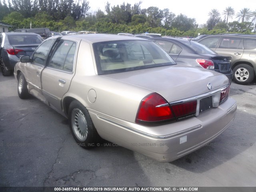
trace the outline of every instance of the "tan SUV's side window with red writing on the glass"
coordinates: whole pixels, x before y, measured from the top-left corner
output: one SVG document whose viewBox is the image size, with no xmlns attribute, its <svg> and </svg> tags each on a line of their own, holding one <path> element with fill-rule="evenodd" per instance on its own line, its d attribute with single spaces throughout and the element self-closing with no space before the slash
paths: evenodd
<svg viewBox="0 0 256 192">
<path fill-rule="evenodd" d="M 222 49 L 242 49 L 242 38 L 236 37 L 222 37 L 219 48 Z"/>
</svg>

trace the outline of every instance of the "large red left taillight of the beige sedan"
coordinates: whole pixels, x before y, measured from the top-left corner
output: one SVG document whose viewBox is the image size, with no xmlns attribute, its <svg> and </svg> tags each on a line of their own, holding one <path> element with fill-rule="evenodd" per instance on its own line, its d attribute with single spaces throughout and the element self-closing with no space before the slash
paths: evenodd
<svg viewBox="0 0 256 192">
<path fill-rule="evenodd" d="M 159 94 L 152 93 L 142 99 L 136 116 L 136 123 L 148 126 L 182 120 L 196 114 L 196 101 L 170 104 Z"/>
</svg>

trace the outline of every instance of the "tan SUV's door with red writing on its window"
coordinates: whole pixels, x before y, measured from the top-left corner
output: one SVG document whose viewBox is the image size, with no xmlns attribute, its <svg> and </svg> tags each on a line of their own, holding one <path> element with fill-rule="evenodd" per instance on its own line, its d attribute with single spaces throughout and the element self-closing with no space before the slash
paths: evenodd
<svg viewBox="0 0 256 192">
<path fill-rule="evenodd" d="M 240 60 L 244 54 L 243 38 L 240 37 L 221 37 L 220 44 L 215 50 L 218 54 L 232 57 L 232 63 Z"/>
</svg>

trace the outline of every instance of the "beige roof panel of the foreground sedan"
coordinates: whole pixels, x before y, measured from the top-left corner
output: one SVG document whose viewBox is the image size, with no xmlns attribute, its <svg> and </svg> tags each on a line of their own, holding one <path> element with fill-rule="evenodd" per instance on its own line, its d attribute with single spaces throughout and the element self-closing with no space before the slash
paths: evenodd
<svg viewBox="0 0 256 192">
<path fill-rule="evenodd" d="M 50 37 L 54 38 L 54 37 Z M 48 38 L 48 39 L 50 39 Z M 145 40 L 142 38 L 138 37 L 132 37 L 132 36 L 125 36 L 125 35 L 112 35 L 112 34 L 78 34 L 78 35 L 64 35 L 62 37 L 59 37 L 62 39 L 67 39 L 67 40 L 75 40 L 75 41 L 80 41 L 80 40 L 85 40 L 90 43 L 97 43 L 97 42 L 107 42 L 107 41 L 115 41 L 115 40 Z"/>
</svg>

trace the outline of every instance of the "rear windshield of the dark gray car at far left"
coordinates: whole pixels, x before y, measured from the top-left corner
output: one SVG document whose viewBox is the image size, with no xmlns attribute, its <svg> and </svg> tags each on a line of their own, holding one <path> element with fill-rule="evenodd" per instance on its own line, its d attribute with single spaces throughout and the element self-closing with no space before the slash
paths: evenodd
<svg viewBox="0 0 256 192">
<path fill-rule="evenodd" d="M 11 45 L 40 44 L 43 40 L 38 35 L 9 35 Z"/>
</svg>

